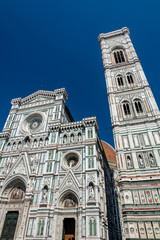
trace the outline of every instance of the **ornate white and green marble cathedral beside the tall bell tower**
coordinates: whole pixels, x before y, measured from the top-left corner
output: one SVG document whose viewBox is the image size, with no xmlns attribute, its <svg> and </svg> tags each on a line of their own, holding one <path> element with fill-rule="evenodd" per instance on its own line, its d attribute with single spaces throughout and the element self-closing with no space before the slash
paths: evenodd
<svg viewBox="0 0 160 240">
<path fill-rule="evenodd" d="M 1 240 L 118 239 L 103 146 L 114 150 L 102 146 L 95 117 L 73 120 L 66 99 L 57 89 L 12 100 L 0 133 Z"/>
</svg>

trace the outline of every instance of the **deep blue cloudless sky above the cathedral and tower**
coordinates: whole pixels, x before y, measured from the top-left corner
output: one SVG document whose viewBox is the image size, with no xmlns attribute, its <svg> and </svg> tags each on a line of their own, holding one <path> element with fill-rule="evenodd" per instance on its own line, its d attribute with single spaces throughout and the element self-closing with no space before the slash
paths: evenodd
<svg viewBox="0 0 160 240">
<path fill-rule="evenodd" d="M 159 0 L 0 1 L 0 129 L 11 99 L 65 87 L 75 119 L 96 116 L 113 146 L 97 37 L 128 27 L 159 105 Z"/>
</svg>

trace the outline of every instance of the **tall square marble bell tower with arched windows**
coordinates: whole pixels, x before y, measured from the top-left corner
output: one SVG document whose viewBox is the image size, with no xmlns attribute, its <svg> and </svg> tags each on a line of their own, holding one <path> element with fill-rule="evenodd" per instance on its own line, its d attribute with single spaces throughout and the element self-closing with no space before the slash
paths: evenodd
<svg viewBox="0 0 160 240">
<path fill-rule="evenodd" d="M 98 37 L 118 165 L 123 239 L 160 239 L 160 112 L 128 28 Z"/>
</svg>

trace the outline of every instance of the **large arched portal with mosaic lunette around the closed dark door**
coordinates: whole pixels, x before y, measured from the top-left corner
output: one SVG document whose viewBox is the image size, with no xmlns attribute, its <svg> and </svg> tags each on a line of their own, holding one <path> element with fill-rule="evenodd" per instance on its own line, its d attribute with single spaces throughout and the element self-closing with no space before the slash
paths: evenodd
<svg viewBox="0 0 160 240">
<path fill-rule="evenodd" d="M 1 203 L 3 205 L 0 221 L 0 239 L 13 240 L 17 238 L 24 218 L 26 187 L 21 179 L 14 179 L 7 184 L 1 194 Z M 20 232 L 20 231 L 19 231 Z M 19 235 L 20 235 L 19 234 Z"/>
</svg>

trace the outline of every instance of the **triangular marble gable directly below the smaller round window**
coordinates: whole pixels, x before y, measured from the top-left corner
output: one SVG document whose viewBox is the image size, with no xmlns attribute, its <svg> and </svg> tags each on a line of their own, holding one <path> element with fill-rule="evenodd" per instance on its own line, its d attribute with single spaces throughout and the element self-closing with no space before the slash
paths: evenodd
<svg viewBox="0 0 160 240">
<path fill-rule="evenodd" d="M 68 170 L 59 187 L 59 193 L 66 190 L 73 190 L 79 192 L 80 184 L 71 169 Z"/>
</svg>

